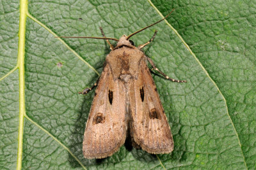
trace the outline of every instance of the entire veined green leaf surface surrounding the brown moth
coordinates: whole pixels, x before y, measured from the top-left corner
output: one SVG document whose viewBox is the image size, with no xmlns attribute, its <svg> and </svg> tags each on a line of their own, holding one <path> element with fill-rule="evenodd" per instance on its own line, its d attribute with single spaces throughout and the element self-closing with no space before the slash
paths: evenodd
<svg viewBox="0 0 256 170">
<path fill-rule="evenodd" d="M 253 1 L 29 1 L 28 6 L 21 1 L 20 9 L 9 2 L 0 10 L 1 169 L 256 167 Z M 168 76 L 188 81 L 152 74 L 172 129 L 173 152 L 151 155 L 122 146 L 107 159 L 84 159 L 83 132 L 94 91 L 77 92 L 97 81 L 109 46 L 99 39 L 54 37 L 101 36 L 102 27 L 106 36 L 120 38 L 172 8 L 168 22 L 132 41 L 145 43 L 157 30 L 145 54 Z M 19 10 L 27 17 L 20 26 Z"/>
</svg>

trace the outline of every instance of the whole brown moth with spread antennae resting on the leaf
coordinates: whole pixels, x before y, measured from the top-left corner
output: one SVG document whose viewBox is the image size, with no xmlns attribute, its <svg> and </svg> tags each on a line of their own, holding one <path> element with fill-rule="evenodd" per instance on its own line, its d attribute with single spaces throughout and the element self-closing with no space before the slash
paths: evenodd
<svg viewBox="0 0 256 170">
<path fill-rule="evenodd" d="M 93 85 L 93 87 L 97 86 L 97 89 L 83 139 L 83 155 L 86 159 L 102 159 L 113 155 L 120 146 L 124 145 L 128 132 L 132 146 L 136 148 L 140 146 L 148 153 L 154 154 L 172 152 L 172 132 L 147 62 L 152 66 L 152 70 L 168 80 L 186 81 L 174 80 L 166 76 L 141 50 L 153 41 L 157 31 L 147 43 L 138 47 L 130 40 L 134 34 L 162 20 L 129 36 L 123 35 L 120 39 L 106 38 L 100 28 L 103 37 L 96 39 L 106 39 L 111 52 L 106 57 L 99 80 Z M 111 45 L 109 39 L 117 41 L 116 46 Z M 87 94 L 93 87 L 79 93 Z"/>
</svg>

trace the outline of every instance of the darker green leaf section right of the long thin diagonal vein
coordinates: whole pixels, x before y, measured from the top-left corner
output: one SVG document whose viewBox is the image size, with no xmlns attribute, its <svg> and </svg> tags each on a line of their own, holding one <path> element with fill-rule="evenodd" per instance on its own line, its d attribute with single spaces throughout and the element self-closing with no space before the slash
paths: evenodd
<svg viewBox="0 0 256 170">
<path fill-rule="evenodd" d="M 256 168 L 255 1 L 153 1 L 216 82 L 227 101 L 248 169 Z M 180 19 L 182 18 L 182 19 Z"/>
</svg>

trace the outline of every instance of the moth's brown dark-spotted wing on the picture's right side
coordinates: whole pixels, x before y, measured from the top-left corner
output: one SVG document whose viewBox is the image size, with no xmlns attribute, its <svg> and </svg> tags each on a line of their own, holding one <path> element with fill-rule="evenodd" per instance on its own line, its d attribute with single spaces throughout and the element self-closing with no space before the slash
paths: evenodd
<svg viewBox="0 0 256 170">
<path fill-rule="evenodd" d="M 145 60 L 140 61 L 137 75 L 129 94 L 132 138 L 148 153 L 170 153 L 172 132 Z"/>
</svg>

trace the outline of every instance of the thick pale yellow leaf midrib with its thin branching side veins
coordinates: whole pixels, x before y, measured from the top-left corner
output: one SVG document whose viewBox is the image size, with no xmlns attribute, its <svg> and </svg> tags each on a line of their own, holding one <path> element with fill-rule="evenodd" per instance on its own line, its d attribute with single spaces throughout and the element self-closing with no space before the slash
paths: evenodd
<svg viewBox="0 0 256 170">
<path fill-rule="evenodd" d="M 83 164 L 80 162 L 79 159 L 67 148 L 67 146 L 63 145 L 57 138 L 52 136 L 51 133 L 46 131 L 43 127 L 36 124 L 31 118 L 26 115 L 26 105 L 25 105 L 25 67 L 24 67 L 24 59 L 25 59 L 25 41 L 26 41 L 26 18 L 29 17 L 32 20 L 35 20 L 38 24 L 40 24 L 42 27 L 47 29 L 47 31 L 51 32 L 54 36 L 57 36 L 54 34 L 54 32 L 51 31 L 51 29 L 47 28 L 44 24 L 36 20 L 33 16 L 31 16 L 28 12 L 28 1 L 27 0 L 20 0 L 20 21 L 19 21 L 19 46 L 18 46 L 18 59 L 17 59 L 17 66 L 15 66 L 11 71 L 9 71 L 7 74 L 5 74 L 0 80 L 3 80 L 8 75 L 12 74 L 13 71 L 16 69 L 19 69 L 19 130 L 18 130 L 18 149 L 17 149 L 17 170 L 22 169 L 22 145 L 23 145 L 23 135 L 24 135 L 24 118 L 27 118 L 31 123 L 35 124 L 39 129 L 44 131 L 46 134 L 51 136 L 52 139 L 54 139 L 57 143 L 59 143 L 65 150 L 74 157 L 74 159 L 77 160 L 77 162 L 83 167 L 83 169 L 86 169 L 86 167 L 83 166 Z M 86 62 L 81 56 L 79 56 L 70 46 L 68 46 L 62 39 L 59 38 L 59 40 L 67 46 L 67 48 L 73 52 L 79 59 L 83 60 L 83 62 L 89 66 L 95 73 L 99 75 L 99 73 L 96 71 L 96 69 L 88 62 Z"/>
</svg>

